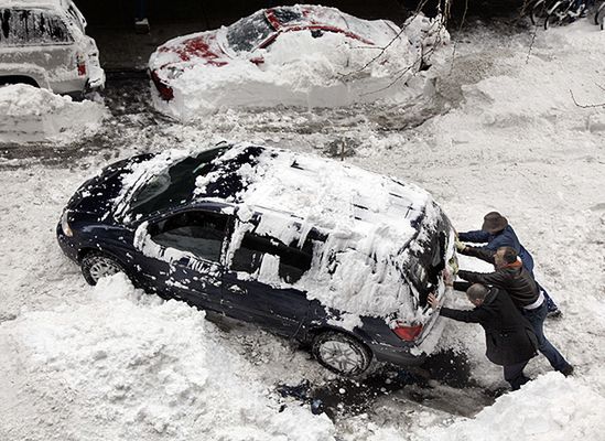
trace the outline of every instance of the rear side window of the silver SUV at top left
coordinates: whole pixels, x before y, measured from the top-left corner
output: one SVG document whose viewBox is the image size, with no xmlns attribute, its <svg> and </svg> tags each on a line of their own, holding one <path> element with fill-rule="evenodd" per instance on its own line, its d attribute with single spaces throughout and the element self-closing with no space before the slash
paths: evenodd
<svg viewBox="0 0 605 441">
<path fill-rule="evenodd" d="M 0 45 L 64 44 L 73 41 L 65 22 L 52 12 L 0 9 Z"/>
</svg>

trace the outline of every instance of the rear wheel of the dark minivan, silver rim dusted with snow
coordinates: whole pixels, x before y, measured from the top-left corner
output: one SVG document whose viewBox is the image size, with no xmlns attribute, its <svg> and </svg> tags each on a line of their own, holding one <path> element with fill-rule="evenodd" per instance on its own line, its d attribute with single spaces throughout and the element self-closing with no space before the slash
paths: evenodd
<svg viewBox="0 0 605 441">
<path fill-rule="evenodd" d="M 313 340 L 313 356 L 336 374 L 354 377 L 371 363 L 370 351 L 357 338 L 341 332 L 323 332 Z"/>
</svg>

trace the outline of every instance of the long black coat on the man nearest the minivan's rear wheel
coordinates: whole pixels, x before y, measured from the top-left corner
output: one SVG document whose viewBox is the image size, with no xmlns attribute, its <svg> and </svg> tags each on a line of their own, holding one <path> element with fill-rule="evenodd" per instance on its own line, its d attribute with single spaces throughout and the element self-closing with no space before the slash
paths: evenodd
<svg viewBox="0 0 605 441">
<path fill-rule="evenodd" d="M 536 355 L 538 341 L 529 321 L 504 290 L 493 288 L 480 306 L 471 311 L 442 308 L 441 315 L 485 330 L 487 358 L 500 366 L 527 362 Z"/>
</svg>

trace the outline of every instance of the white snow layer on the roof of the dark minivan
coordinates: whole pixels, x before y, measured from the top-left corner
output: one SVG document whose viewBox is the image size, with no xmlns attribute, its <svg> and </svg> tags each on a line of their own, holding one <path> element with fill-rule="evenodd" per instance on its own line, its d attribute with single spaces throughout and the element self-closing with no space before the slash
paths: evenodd
<svg viewBox="0 0 605 441">
<path fill-rule="evenodd" d="M 220 163 L 248 154 L 248 143 L 231 147 L 216 162 L 218 168 L 198 178 L 196 194 L 206 195 L 207 184 L 220 178 Z M 430 200 L 422 189 L 366 170 L 293 151 L 260 148 L 235 171 L 244 182 L 236 204 L 253 209 L 294 215 L 301 222 L 332 230 L 368 234 L 375 225 L 388 226 L 400 241 L 415 233 L 410 222 L 418 218 Z M 230 171 L 234 173 L 234 171 Z M 212 194 L 210 194 L 212 196 Z"/>
</svg>

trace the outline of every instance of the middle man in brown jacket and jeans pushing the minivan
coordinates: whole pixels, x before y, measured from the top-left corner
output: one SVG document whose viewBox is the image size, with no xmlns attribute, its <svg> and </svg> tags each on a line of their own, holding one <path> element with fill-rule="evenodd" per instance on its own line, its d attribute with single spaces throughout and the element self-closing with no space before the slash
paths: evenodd
<svg viewBox="0 0 605 441">
<path fill-rule="evenodd" d="M 548 358 L 555 370 L 565 376 L 571 375 L 573 366 L 544 336 L 543 325 L 548 313 L 544 294 L 517 258 L 517 251 L 510 247 L 500 247 L 495 254 L 482 248 L 473 248 L 471 252 L 493 263 L 496 271 L 483 273 L 460 270 L 457 276 L 472 283 L 483 283 L 506 290 L 516 306 L 531 323 L 538 337 L 538 351 Z"/>
</svg>

